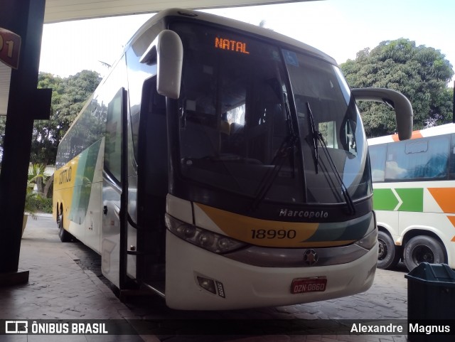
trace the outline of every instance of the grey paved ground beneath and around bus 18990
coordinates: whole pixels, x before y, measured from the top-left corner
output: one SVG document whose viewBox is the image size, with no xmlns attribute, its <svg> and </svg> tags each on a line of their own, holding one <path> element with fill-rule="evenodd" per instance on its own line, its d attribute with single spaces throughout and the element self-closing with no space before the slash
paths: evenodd
<svg viewBox="0 0 455 342">
<path fill-rule="evenodd" d="M 405 268 L 394 271 L 378 269 L 373 287 L 363 294 L 311 304 L 282 306 L 267 309 L 239 311 L 175 311 L 168 309 L 158 296 L 134 296 L 122 303 L 103 281 L 100 274 L 100 257 L 79 242 L 62 243 L 58 230 L 49 217 L 29 221 L 21 244 L 20 269 L 30 271 L 28 284 L 0 289 L 0 319 L 117 319 L 137 323 L 138 319 L 176 322 L 190 321 L 196 328 L 203 327 L 212 319 L 221 328 L 232 324 L 232 328 L 255 324 L 270 319 L 283 322 L 284 319 L 301 322 L 308 320 L 309 335 L 234 336 L 229 335 L 182 336 L 163 335 L 141 336 L 18 336 L 0 335 L 1 342 L 9 341 L 237 341 L 237 342 L 296 342 L 296 341 L 343 341 L 343 342 L 404 342 L 403 335 L 348 335 L 316 334 L 315 327 L 346 326 L 346 320 L 388 319 L 392 321 L 407 318 L 407 279 Z M 294 320 L 294 321 L 292 321 Z M 181 321 L 178 321 L 181 322 Z M 226 322 L 228 322 L 226 324 Z M 212 323 L 213 324 L 213 323 Z M 264 328 L 264 326 L 262 326 Z M 311 330 L 313 329 L 313 330 Z M 186 331 L 186 330 L 184 330 Z M 296 330 L 294 330 L 296 331 Z M 326 331 L 326 330 L 324 330 Z M 199 332 L 199 331 L 198 331 Z M 256 331 L 255 331 L 256 332 Z"/>
</svg>

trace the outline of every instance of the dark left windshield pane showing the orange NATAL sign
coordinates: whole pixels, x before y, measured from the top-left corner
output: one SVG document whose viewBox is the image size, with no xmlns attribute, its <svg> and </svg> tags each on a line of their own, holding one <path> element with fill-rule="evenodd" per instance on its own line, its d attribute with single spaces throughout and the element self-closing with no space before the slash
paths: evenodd
<svg viewBox="0 0 455 342">
<path fill-rule="evenodd" d="M 301 203 L 300 152 L 287 142 L 294 134 L 279 49 L 207 26 L 172 28 L 184 47 L 183 176 L 250 198 Z"/>
</svg>

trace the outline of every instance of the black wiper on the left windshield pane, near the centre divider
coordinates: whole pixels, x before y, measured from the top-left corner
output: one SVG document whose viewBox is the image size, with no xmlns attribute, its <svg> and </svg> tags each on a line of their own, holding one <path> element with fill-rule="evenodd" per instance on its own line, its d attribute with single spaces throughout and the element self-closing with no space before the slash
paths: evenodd
<svg viewBox="0 0 455 342">
<path fill-rule="evenodd" d="M 292 118 L 291 118 L 291 112 L 289 110 L 289 105 L 287 102 L 287 95 L 284 92 L 284 107 L 286 109 L 286 117 L 287 117 L 287 124 L 288 124 L 288 130 L 289 134 L 287 137 L 284 138 L 281 146 L 279 146 L 279 149 L 277 153 L 275 154 L 274 158 L 272 159 L 272 165 L 273 169 L 269 169 L 266 171 L 264 178 L 262 178 L 262 181 L 259 183 L 259 187 L 256 192 L 255 200 L 252 202 L 252 210 L 255 210 L 259 203 L 261 203 L 267 193 L 269 192 L 270 188 L 272 187 L 272 184 L 277 178 L 279 171 L 282 169 L 282 166 L 284 164 L 284 161 L 288 158 L 288 156 L 291 156 L 291 166 L 292 166 L 292 176 L 294 176 L 295 173 L 295 166 L 294 166 L 294 148 L 299 141 L 299 136 L 295 134 L 294 131 L 294 125 L 292 124 Z"/>
</svg>

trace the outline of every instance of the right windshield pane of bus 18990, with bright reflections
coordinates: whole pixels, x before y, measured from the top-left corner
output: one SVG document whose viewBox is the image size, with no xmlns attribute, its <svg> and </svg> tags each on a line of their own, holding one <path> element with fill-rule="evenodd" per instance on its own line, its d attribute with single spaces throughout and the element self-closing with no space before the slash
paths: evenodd
<svg viewBox="0 0 455 342">
<path fill-rule="evenodd" d="M 307 201 L 344 202 L 344 186 L 353 200 L 370 195 L 367 141 L 341 71 L 293 51 L 283 55 L 299 122 Z"/>
</svg>

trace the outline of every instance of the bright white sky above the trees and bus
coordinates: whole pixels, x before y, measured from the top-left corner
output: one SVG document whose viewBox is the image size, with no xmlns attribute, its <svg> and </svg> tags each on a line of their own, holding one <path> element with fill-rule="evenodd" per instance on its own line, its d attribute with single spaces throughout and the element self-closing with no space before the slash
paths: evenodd
<svg viewBox="0 0 455 342">
<path fill-rule="evenodd" d="M 338 63 L 382 41 L 407 38 L 440 50 L 455 65 L 454 0 L 322 0 L 206 11 L 255 25 L 265 21 L 266 28 L 314 46 Z M 95 70 L 103 76 L 103 63 L 114 63 L 152 15 L 45 24 L 40 71 L 65 78 Z"/>
</svg>

